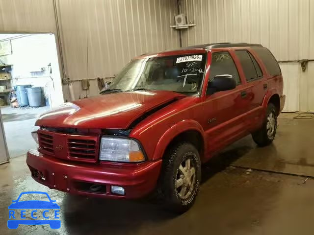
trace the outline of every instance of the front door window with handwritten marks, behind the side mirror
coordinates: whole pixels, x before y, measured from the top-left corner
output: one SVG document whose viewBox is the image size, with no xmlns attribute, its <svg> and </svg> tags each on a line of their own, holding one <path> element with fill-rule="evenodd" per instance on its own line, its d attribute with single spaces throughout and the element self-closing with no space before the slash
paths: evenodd
<svg viewBox="0 0 314 235">
<path fill-rule="evenodd" d="M 214 52 L 211 57 L 209 82 L 212 81 L 214 76 L 223 74 L 232 75 L 235 79 L 236 85 L 241 84 L 235 62 L 229 52 Z M 207 94 L 210 94 L 210 87 L 207 88 Z"/>
</svg>

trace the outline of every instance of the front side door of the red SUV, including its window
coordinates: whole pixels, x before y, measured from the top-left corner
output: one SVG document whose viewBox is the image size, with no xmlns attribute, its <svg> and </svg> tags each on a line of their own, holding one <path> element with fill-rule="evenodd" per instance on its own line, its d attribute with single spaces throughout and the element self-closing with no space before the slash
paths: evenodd
<svg viewBox="0 0 314 235">
<path fill-rule="evenodd" d="M 249 102 L 246 86 L 239 76 L 233 56 L 228 51 L 212 53 L 209 81 L 216 75 L 230 74 L 237 86 L 234 90 L 216 93 L 213 93 L 210 86 L 207 88 L 203 102 L 203 127 L 209 152 L 215 152 L 247 134 L 243 116 Z"/>
</svg>

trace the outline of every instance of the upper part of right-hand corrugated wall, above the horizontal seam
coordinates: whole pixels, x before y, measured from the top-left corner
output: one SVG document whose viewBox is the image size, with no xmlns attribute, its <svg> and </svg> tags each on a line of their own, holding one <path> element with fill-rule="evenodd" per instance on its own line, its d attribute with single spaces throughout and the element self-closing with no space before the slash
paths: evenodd
<svg viewBox="0 0 314 235">
<path fill-rule="evenodd" d="M 314 34 L 313 0 L 183 0 L 182 12 L 188 12 L 188 20 L 196 24 L 184 31 L 183 36 L 188 38 L 183 46 L 200 41 L 262 43 L 278 60 L 314 54 L 314 46 L 310 45 L 310 34 Z"/>
</svg>

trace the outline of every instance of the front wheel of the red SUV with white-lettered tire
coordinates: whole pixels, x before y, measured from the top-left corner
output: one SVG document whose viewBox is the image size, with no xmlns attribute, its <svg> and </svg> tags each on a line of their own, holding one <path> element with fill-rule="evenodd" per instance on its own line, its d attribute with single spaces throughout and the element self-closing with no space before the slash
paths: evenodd
<svg viewBox="0 0 314 235">
<path fill-rule="evenodd" d="M 195 202 L 201 183 L 201 160 L 196 147 L 176 144 L 163 158 L 161 194 L 171 211 L 183 213 Z"/>
</svg>

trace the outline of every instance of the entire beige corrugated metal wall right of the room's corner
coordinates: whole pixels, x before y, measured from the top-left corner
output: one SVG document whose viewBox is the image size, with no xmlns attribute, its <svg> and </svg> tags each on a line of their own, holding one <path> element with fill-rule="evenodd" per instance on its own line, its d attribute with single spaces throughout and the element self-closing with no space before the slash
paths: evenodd
<svg viewBox="0 0 314 235">
<path fill-rule="evenodd" d="M 313 0 L 182 0 L 195 27 L 183 31 L 183 46 L 216 42 L 261 43 L 279 61 L 314 59 Z M 286 111 L 314 111 L 314 62 L 281 63 Z"/>
</svg>

